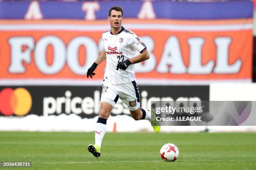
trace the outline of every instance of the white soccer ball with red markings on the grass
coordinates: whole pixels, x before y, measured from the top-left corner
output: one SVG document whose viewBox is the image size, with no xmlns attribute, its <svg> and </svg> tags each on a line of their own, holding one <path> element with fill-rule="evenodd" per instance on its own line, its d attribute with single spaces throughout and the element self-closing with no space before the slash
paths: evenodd
<svg viewBox="0 0 256 170">
<path fill-rule="evenodd" d="M 167 143 L 162 146 L 160 156 L 165 161 L 174 161 L 179 157 L 179 149 L 172 143 Z"/>
</svg>

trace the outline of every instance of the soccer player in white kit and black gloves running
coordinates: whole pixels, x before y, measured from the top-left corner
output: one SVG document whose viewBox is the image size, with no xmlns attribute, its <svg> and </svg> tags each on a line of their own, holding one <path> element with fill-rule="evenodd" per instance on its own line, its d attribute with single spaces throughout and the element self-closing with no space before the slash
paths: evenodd
<svg viewBox="0 0 256 170">
<path fill-rule="evenodd" d="M 97 158 L 100 157 L 100 147 L 105 135 L 107 119 L 119 97 L 128 106 L 134 120 L 147 119 L 156 133 L 160 131 L 155 114 L 153 112 L 151 114 L 146 108 L 140 108 L 140 96 L 135 82 L 134 64 L 147 60 L 149 52 L 137 35 L 123 28 L 122 7 L 111 7 L 108 21 L 111 30 L 102 34 L 104 50 L 87 70 L 87 78 L 89 76 L 92 78 L 97 65 L 107 60 L 99 118 L 95 128 L 95 145 L 88 146 L 88 151 Z M 135 56 L 137 51 L 140 54 Z"/>
</svg>

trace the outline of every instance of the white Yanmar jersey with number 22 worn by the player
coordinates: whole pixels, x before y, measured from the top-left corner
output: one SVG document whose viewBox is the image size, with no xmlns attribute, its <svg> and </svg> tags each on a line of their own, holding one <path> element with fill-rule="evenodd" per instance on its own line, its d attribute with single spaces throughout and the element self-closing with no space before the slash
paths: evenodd
<svg viewBox="0 0 256 170">
<path fill-rule="evenodd" d="M 111 31 L 102 34 L 104 48 L 107 56 L 107 67 L 104 80 L 111 84 L 122 84 L 135 80 L 134 64 L 126 70 L 118 69 L 119 62 L 135 57 L 136 52 L 146 49 L 144 43 L 132 31 L 122 27 L 118 34 L 113 35 Z"/>
</svg>

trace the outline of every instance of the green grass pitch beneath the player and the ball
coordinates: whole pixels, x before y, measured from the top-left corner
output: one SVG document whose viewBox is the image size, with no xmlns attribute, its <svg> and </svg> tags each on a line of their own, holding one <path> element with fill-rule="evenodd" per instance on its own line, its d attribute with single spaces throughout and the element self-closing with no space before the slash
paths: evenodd
<svg viewBox="0 0 256 170">
<path fill-rule="evenodd" d="M 256 169 L 256 133 L 106 133 L 99 159 L 91 143 L 94 133 L 0 132 L 0 161 L 31 161 L 26 170 Z M 166 143 L 179 148 L 174 162 L 159 156 Z"/>
</svg>

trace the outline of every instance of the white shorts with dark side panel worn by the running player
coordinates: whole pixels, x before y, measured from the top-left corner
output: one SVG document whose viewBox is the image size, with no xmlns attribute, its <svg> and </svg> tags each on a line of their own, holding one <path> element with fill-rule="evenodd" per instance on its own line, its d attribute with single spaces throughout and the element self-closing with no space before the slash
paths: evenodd
<svg viewBox="0 0 256 170">
<path fill-rule="evenodd" d="M 104 81 L 100 102 L 108 102 L 114 107 L 119 97 L 131 111 L 137 110 L 141 106 L 140 95 L 135 80 L 117 85 Z"/>
</svg>

